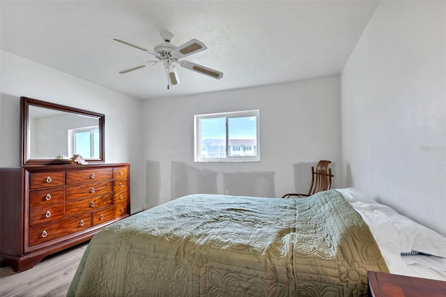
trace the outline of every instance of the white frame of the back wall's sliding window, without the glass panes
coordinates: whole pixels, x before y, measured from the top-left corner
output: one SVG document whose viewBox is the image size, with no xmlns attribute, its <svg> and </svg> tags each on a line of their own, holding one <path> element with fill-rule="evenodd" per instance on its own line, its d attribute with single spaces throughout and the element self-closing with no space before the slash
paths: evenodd
<svg viewBox="0 0 446 297">
<path fill-rule="evenodd" d="M 256 116 L 256 155 L 229 155 L 229 125 L 231 118 Z M 213 118 L 226 119 L 226 157 L 202 158 L 201 157 L 201 119 Z M 252 146 L 251 146 L 252 148 Z M 253 150 L 254 148 L 252 148 Z M 260 161 L 260 110 L 243 110 L 238 112 L 218 112 L 213 114 L 194 115 L 194 162 L 259 162 Z"/>
</svg>

